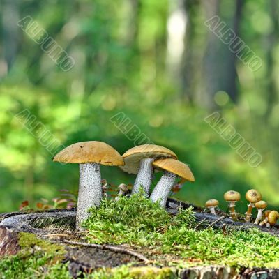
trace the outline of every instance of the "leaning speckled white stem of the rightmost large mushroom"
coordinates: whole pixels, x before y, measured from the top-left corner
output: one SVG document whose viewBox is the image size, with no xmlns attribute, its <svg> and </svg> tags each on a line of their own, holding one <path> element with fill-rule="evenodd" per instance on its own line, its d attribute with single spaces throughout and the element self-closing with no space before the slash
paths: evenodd
<svg viewBox="0 0 279 279">
<path fill-rule="evenodd" d="M 176 174 L 165 171 L 165 173 L 155 186 L 153 192 L 151 193 L 151 201 L 157 202 L 158 200 L 160 200 L 160 206 L 165 208 L 165 205 L 167 203 L 167 197 L 169 195 L 170 190 L 172 190 L 172 186 L 174 186 L 175 179 Z"/>
</svg>

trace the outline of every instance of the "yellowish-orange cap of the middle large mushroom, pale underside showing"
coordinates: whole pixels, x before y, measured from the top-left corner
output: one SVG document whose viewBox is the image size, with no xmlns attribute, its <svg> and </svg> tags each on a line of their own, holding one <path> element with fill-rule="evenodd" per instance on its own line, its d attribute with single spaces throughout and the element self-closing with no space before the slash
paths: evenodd
<svg viewBox="0 0 279 279">
<path fill-rule="evenodd" d="M 123 172 L 137 174 L 140 169 L 140 160 L 144 158 L 174 158 L 176 154 L 166 147 L 155 144 L 143 144 L 128 149 L 123 155 L 125 165 L 120 167 Z"/>
</svg>

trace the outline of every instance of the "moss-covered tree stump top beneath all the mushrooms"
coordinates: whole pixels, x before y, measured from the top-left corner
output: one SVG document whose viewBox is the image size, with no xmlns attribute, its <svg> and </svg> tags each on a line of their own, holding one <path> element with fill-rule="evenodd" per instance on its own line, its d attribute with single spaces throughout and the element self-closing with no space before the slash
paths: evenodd
<svg viewBox="0 0 279 279">
<path fill-rule="evenodd" d="M 74 209 L 1 214 L 0 277 L 279 278 L 278 225 L 234 222 L 175 199 L 168 213 L 136 202 L 92 209 L 80 233 Z"/>
</svg>

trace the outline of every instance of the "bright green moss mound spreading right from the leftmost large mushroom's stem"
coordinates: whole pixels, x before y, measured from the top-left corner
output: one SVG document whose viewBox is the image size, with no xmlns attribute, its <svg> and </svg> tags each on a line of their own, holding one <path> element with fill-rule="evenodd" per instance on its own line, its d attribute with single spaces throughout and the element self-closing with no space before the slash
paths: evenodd
<svg viewBox="0 0 279 279">
<path fill-rule="evenodd" d="M 162 266 L 279 266 L 278 237 L 258 229 L 196 230 L 191 209 L 169 216 L 142 195 L 104 199 L 84 226 L 91 243 L 128 243 Z"/>
</svg>

